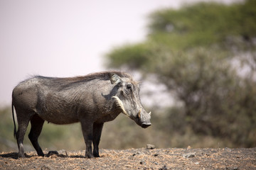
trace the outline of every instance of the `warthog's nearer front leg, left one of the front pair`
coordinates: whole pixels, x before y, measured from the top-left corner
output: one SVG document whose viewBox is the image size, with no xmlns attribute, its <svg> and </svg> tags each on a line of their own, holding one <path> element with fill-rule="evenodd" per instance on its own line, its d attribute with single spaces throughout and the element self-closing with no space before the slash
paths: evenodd
<svg viewBox="0 0 256 170">
<path fill-rule="evenodd" d="M 89 121 L 81 121 L 82 125 L 82 135 L 85 139 L 85 157 L 92 158 L 92 123 L 88 123 Z"/>
</svg>

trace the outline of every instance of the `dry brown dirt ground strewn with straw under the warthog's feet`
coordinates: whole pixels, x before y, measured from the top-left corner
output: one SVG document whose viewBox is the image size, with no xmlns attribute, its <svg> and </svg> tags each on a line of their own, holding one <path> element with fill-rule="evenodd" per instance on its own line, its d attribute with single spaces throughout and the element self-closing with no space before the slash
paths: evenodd
<svg viewBox="0 0 256 170">
<path fill-rule="evenodd" d="M 256 148 L 248 149 L 100 149 L 100 158 L 85 158 L 85 151 L 58 151 L 38 157 L 28 152 L 1 153 L 0 169 L 256 169 Z"/>
</svg>

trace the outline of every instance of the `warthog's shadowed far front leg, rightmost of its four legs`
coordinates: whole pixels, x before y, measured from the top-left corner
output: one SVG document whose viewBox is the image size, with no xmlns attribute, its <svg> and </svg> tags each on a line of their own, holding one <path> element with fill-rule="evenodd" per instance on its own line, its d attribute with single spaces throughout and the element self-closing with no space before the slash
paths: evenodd
<svg viewBox="0 0 256 170">
<path fill-rule="evenodd" d="M 103 123 L 94 123 L 93 124 L 93 156 L 100 157 L 99 154 L 99 144 L 100 144 L 100 136 L 102 133 Z"/>
</svg>

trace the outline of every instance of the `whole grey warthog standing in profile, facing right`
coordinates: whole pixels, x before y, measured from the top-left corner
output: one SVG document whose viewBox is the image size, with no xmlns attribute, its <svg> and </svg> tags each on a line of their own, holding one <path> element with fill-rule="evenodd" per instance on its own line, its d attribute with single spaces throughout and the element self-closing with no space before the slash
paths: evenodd
<svg viewBox="0 0 256 170">
<path fill-rule="evenodd" d="M 151 125 L 151 113 L 146 113 L 139 98 L 139 84 L 124 72 L 100 72 L 73 78 L 32 77 L 14 88 L 12 112 L 18 157 L 25 157 L 23 138 L 29 122 L 28 138 L 39 156 L 44 156 L 38 137 L 45 121 L 58 125 L 80 122 L 88 158 L 100 157 L 98 146 L 103 124 L 114 120 L 119 113 L 142 128 Z"/>
</svg>

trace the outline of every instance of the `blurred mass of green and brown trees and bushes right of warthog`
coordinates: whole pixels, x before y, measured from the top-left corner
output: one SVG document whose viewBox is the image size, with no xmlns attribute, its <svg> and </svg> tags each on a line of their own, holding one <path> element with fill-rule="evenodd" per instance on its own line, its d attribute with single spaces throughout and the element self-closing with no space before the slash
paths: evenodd
<svg viewBox="0 0 256 170">
<path fill-rule="evenodd" d="M 107 66 L 135 69 L 145 79 L 154 74 L 175 94 L 182 106 L 166 109 L 168 121 L 159 119 L 156 126 L 170 136 L 255 147 L 256 1 L 167 8 L 151 13 L 148 27 L 144 42 L 110 51 Z"/>
</svg>

